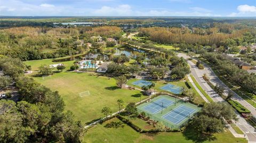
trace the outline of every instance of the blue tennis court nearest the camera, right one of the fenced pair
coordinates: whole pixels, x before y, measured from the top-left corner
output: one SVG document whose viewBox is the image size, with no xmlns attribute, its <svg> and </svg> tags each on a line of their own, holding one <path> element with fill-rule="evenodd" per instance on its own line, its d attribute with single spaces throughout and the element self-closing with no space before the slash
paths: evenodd
<svg viewBox="0 0 256 143">
<path fill-rule="evenodd" d="M 179 124 L 183 120 L 185 120 L 187 117 L 190 117 L 191 114 L 196 112 L 193 108 L 190 108 L 185 105 L 181 105 L 177 108 L 175 108 L 173 111 L 163 115 L 163 119 L 168 120 L 174 124 Z"/>
</svg>

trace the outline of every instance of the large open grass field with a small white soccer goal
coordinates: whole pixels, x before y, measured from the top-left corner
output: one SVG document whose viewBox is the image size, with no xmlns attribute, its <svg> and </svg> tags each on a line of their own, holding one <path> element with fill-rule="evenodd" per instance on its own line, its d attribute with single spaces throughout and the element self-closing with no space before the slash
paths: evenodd
<svg viewBox="0 0 256 143">
<path fill-rule="evenodd" d="M 66 110 L 73 111 L 83 123 L 103 117 L 101 110 L 104 106 L 109 106 L 113 112 L 118 111 L 117 99 L 123 99 L 125 104 L 140 101 L 139 90 L 119 89 L 114 78 L 108 80 L 89 73 L 61 72 L 45 80 L 42 77 L 34 79 L 54 91 L 59 91 Z M 89 96 L 79 96 L 80 92 L 87 90 L 90 91 Z M 142 96 L 142 99 L 146 97 Z"/>
</svg>

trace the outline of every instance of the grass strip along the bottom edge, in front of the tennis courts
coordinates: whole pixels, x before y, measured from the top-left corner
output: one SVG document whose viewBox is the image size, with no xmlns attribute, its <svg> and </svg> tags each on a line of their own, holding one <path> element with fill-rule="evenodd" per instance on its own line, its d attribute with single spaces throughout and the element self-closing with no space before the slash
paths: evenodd
<svg viewBox="0 0 256 143">
<path fill-rule="evenodd" d="M 84 136 L 83 142 L 159 142 L 159 143 L 192 143 L 192 142 L 211 142 L 211 143 L 226 143 L 239 142 L 245 143 L 246 139 L 235 138 L 228 129 L 223 133 L 216 133 L 213 136 L 213 140 L 204 139 L 202 141 L 196 140 L 196 134 L 194 130 L 187 130 L 186 132 L 160 132 L 160 133 L 138 133 L 126 124 L 122 124 L 119 128 L 106 127 L 108 123 L 120 123 L 117 118 L 111 119 L 103 124 L 97 124 L 95 127 L 89 129 Z M 123 127 L 122 127 L 123 126 Z M 197 137 L 201 139 L 202 137 Z"/>
</svg>

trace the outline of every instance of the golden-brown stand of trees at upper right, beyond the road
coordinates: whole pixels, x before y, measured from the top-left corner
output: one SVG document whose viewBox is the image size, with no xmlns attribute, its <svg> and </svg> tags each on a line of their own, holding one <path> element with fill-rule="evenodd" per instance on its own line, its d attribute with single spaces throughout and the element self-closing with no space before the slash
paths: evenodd
<svg viewBox="0 0 256 143">
<path fill-rule="evenodd" d="M 226 27 L 230 28 L 226 28 Z M 149 37 L 151 41 L 161 44 L 191 44 L 212 46 L 235 46 L 240 44 L 255 43 L 256 30 L 251 27 L 234 28 L 218 24 L 212 28 L 140 28 L 139 36 Z"/>
</svg>

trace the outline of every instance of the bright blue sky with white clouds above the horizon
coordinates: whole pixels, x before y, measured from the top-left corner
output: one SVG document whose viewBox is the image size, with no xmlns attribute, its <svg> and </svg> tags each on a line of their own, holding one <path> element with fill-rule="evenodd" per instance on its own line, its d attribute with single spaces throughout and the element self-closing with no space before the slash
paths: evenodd
<svg viewBox="0 0 256 143">
<path fill-rule="evenodd" d="M 13 16 L 256 16 L 256 0 L 0 0 Z"/>
</svg>

